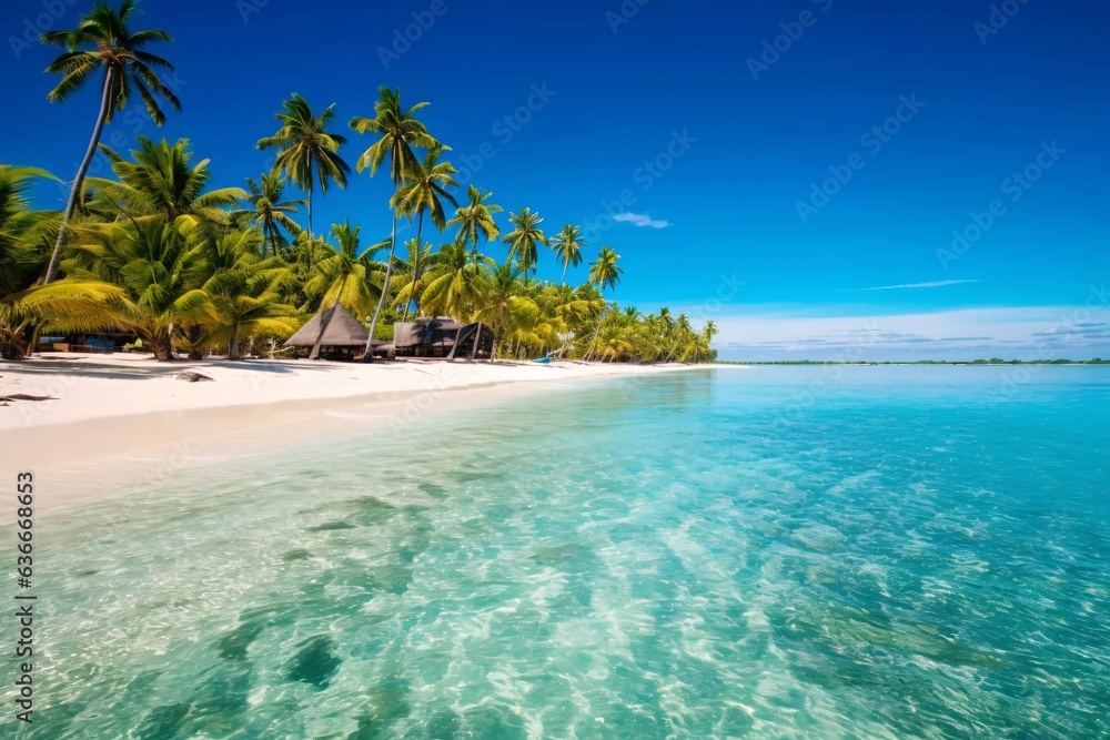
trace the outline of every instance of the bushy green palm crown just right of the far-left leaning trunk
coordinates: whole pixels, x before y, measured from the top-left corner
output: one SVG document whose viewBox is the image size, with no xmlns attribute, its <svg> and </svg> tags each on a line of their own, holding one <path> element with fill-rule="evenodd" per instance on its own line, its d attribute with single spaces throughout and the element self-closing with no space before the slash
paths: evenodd
<svg viewBox="0 0 1110 740">
<path fill-rule="evenodd" d="M 179 139 L 170 145 L 164 139 L 155 143 L 139 136 L 139 149 L 131 152 L 129 162 L 108 146 L 101 146 L 112 163 L 119 181 L 89 178 L 89 185 L 98 193 L 104 210 L 123 216 L 154 216 L 163 223 L 173 223 L 188 216 L 204 224 L 226 225 L 230 214 L 225 209 L 238 205 L 246 197 L 242 187 L 221 187 L 204 191 L 210 173 L 209 160 L 190 166 L 192 152 L 189 140 Z"/>
</svg>

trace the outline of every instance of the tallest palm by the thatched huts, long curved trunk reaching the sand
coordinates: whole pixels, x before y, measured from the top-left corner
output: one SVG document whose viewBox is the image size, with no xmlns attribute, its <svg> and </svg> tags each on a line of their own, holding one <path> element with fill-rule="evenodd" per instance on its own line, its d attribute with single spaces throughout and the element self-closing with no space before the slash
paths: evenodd
<svg viewBox="0 0 1110 740">
<path fill-rule="evenodd" d="M 362 153 L 355 163 L 355 170 L 361 174 L 367 166 L 370 176 L 373 178 L 377 168 L 382 165 L 385 158 L 390 158 L 390 179 L 393 181 L 394 201 L 401 192 L 401 185 L 407 173 L 412 172 L 418 162 L 413 146 L 433 149 L 440 144 L 428 133 L 424 124 L 416 120 L 414 113 L 427 105 L 427 103 L 416 103 L 407 111 L 401 108 L 401 90 L 390 90 L 379 88 L 379 99 L 374 103 L 374 118 L 355 116 L 351 119 L 350 126 L 359 133 L 377 133 L 381 138 L 371 144 Z M 389 293 L 390 277 L 393 274 L 393 252 L 397 244 L 397 215 L 398 206 L 391 203 L 393 210 L 393 232 L 390 237 L 390 260 L 385 267 L 386 290 L 382 291 L 382 297 L 374 310 L 374 316 L 370 321 L 370 338 L 366 339 L 366 352 L 363 359 L 371 362 L 374 358 L 374 333 L 377 331 L 377 318 L 382 314 L 382 306 Z M 401 211 L 404 213 L 404 211 Z"/>
</svg>

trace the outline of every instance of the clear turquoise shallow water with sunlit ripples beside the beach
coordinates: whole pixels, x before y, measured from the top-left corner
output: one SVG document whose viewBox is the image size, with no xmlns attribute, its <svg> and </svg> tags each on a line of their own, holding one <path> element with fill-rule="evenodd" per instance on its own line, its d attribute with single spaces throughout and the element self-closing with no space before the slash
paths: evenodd
<svg viewBox="0 0 1110 740">
<path fill-rule="evenodd" d="M 18 737 L 1107 737 L 1110 373 L 1001 372 L 609 382 L 53 515 Z"/>
</svg>

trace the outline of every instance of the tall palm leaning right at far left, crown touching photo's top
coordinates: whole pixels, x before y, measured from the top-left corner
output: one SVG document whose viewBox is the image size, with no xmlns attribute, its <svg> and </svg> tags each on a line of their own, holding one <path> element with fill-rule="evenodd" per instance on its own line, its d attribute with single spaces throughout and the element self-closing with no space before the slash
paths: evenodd
<svg viewBox="0 0 1110 740">
<path fill-rule="evenodd" d="M 162 83 L 154 71 L 154 68 L 160 68 L 172 72 L 173 65 L 143 49 L 153 41 L 169 42 L 172 39 L 165 31 L 131 31 L 128 28 L 128 19 L 135 8 L 137 3 L 133 0 L 123 0 L 119 11 L 115 11 L 109 7 L 107 0 L 99 0 L 90 13 L 81 17 L 75 29 L 49 31 L 42 34 L 43 43 L 61 45 L 67 49 L 65 53 L 58 57 L 47 68 L 48 72 L 63 75 L 58 87 L 47 95 L 47 100 L 50 102 L 63 102 L 75 90 L 83 87 L 93 72 L 99 69 L 104 70 L 100 112 L 97 114 L 97 123 L 92 129 L 89 149 L 85 150 L 84 159 L 81 160 L 77 176 L 73 178 L 73 185 L 70 187 L 69 200 L 65 202 L 61 229 L 58 231 L 58 240 L 54 242 L 54 250 L 50 255 L 50 264 L 43 281 L 48 284 L 58 274 L 58 260 L 62 245 L 65 244 L 65 230 L 73 217 L 73 210 L 77 207 L 84 176 L 89 172 L 89 164 L 92 163 L 92 158 L 97 153 L 100 134 L 104 130 L 104 124 L 112 120 L 113 112 L 122 111 L 127 107 L 132 89 L 139 91 L 147 113 L 157 125 L 162 125 L 165 122 L 165 114 L 159 107 L 155 95 L 168 101 L 174 110 L 181 110 L 181 101 L 178 100 L 172 90 Z"/>
</svg>

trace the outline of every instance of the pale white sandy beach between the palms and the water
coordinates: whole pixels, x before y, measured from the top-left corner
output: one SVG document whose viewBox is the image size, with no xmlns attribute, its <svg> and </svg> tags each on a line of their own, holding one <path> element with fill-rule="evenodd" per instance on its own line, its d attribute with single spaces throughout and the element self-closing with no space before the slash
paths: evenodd
<svg viewBox="0 0 1110 740">
<path fill-rule="evenodd" d="M 387 435 L 428 415 L 602 378 L 639 377 L 689 366 L 578 363 L 372 365 L 307 361 L 158 363 L 150 356 L 46 354 L 0 363 L 0 396 L 51 401 L 0 406 L 0 474 L 31 469 L 72 506 L 120 490 L 120 480 L 157 485 L 230 454 L 359 428 Z M 180 379 L 200 373 L 211 382 Z"/>
</svg>

